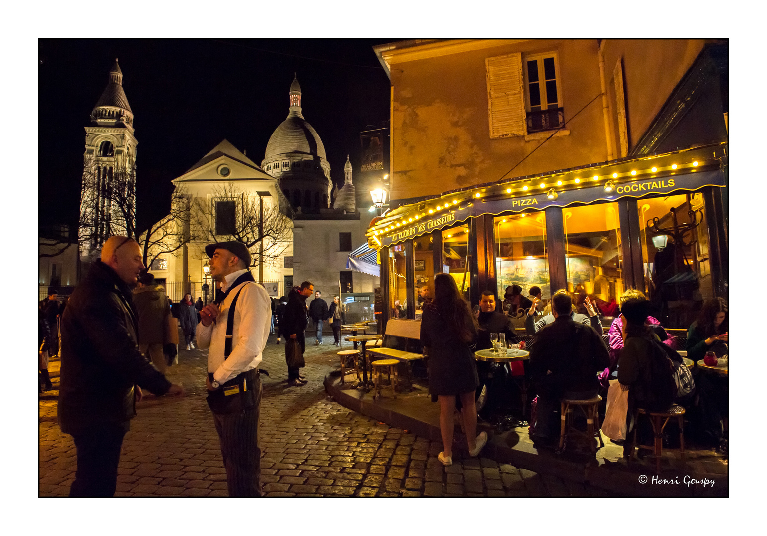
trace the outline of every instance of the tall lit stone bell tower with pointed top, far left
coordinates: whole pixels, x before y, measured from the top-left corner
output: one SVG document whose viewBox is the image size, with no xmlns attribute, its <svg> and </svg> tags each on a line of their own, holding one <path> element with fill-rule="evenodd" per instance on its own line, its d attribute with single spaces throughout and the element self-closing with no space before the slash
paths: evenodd
<svg viewBox="0 0 767 536">
<path fill-rule="evenodd" d="M 133 110 L 115 58 L 107 87 L 85 127 L 79 229 L 85 262 L 95 260 L 110 235 L 135 234 L 136 146 Z"/>
</svg>

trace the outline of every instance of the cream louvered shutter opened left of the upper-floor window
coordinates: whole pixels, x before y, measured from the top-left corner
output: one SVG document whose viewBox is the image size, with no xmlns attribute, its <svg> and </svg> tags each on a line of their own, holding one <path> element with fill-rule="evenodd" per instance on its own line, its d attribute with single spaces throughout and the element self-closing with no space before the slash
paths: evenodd
<svg viewBox="0 0 767 536">
<path fill-rule="evenodd" d="M 522 53 L 485 58 L 490 137 L 525 136 Z"/>
</svg>

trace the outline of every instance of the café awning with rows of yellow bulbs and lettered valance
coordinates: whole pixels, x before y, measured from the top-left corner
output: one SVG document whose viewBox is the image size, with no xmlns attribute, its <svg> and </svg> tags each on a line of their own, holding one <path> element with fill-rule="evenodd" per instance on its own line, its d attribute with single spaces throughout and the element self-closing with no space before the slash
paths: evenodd
<svg viewBox="0 0 767 536">
<path fill-rule="evenodd" d="M 723 171 L 726 147 L 727 143 L 714 143 L 425 196 L 387 212 L 367 230 L 367 240 L 371 248 L 382 248 L 484 214 L 543 210 L 550 206 L 565 208 L 625 197 L 692 192 L 703 186 L 726 186 Z"/>
</svg>

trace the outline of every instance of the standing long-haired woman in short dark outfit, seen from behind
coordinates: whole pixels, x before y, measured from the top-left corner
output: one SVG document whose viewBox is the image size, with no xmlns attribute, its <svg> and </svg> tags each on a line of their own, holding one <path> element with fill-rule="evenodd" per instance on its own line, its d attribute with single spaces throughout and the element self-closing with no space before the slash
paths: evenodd
<svg viewBox="0 0 767 536">
<path fill-rule="evenodd" d="M 474 390 L 479 385 L 479 378 L 470 346 L 476 337 L 476 319 L 469 304 L 461 297 L 456 281 L 448 274 L 436 275 L 434 300 L 423 307 L 421 342 L 429 349 L 429 390 L 439 399 L 439 429 L 444 450 L 438 457 L 443 465 L 453 463 L 456 397 L 463 404 L 461 419 L 469 455 L 479 454 L 487 442 L 485 432 L 475 436 Z"/>
</svg>

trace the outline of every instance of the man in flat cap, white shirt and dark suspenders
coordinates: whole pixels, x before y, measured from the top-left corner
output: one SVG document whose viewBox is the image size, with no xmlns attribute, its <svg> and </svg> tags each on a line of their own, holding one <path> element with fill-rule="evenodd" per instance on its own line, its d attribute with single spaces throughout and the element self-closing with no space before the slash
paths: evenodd
<svg viewBox="0 0 767 536">
<path fill-rule="evenodd" d="M 206 245 L 210 275 L 222 284 L 222 301 L 199 311 L 197 343 L 208 352 L 208 405 L 226 469 L 229 497 L 261 497 L 258 363 L 269 336 L 269 296 L 249 271 L 242 242 Z"/>
</svg>

